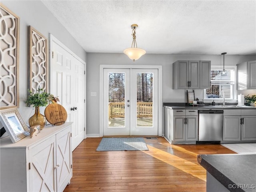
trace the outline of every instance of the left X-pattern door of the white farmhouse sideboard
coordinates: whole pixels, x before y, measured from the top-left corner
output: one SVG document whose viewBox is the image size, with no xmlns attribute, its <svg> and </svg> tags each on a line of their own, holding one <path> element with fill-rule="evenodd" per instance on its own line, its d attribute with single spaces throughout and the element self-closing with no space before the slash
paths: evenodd
<svg viewBox="0 0 256 192">
<path fill-rule="evenodd" d="M 56 136 L 54 135 L 29 150 L 29 188 L 31 192 L 56 191 L 55 148 Z"/>
</svg>

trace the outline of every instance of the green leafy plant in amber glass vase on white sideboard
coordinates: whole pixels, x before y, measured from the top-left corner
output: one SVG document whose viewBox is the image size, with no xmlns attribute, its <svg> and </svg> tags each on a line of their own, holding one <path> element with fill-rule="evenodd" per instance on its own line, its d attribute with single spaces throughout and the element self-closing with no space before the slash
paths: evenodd
<svg viewBox="0 0 256 192">
<path fill-rule="evenodd" d="M 28 90 L 28 93 L 29 95 L 25 103 L 28 106 L 35 107 L 35 114 L 28 120 L 29 126 L 40 125 L 40 130 L 42 130 L 45 126 L 46 118 L 44 115 L 40 114 L 40 106 L 47 106 L 49 101 L 52 100 L 52 94 L 43 92 L 43 89 L 38 89 L 35 93 Z"/>
</svg>

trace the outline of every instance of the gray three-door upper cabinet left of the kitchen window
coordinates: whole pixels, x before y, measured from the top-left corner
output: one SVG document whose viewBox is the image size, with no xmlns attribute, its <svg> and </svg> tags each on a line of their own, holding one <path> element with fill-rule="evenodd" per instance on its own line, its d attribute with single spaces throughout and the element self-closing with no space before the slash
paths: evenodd
<svg viewBox="0 0 256 192">
<path fill-rule="evenodd" d="M 210 61 L 176 61 L 172 64 L 173 89 L 210 87 Z"/>
</svg>

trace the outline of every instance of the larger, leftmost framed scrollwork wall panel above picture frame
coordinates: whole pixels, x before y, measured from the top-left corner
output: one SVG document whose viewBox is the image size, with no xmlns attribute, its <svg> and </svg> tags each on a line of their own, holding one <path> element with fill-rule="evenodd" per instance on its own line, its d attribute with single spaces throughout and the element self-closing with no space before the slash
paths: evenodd
<svg viewBox="0 0 256 192">
<path fill-rule="evenodd" d="M 19 106 L 20 18 L 0 4 L 0 109 Z"/>
</svg>

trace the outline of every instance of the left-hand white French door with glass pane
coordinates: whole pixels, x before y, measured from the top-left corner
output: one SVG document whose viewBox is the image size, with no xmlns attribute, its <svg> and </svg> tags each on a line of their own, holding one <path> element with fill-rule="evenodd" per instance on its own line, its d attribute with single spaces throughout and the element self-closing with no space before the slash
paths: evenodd
<svg viewBox="0 0 256 192">
<path fill-rule="evenodd" d="M 130 69 L 104 69 L 104 136 L 130 135 Z"/>
</svg>

